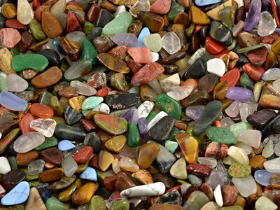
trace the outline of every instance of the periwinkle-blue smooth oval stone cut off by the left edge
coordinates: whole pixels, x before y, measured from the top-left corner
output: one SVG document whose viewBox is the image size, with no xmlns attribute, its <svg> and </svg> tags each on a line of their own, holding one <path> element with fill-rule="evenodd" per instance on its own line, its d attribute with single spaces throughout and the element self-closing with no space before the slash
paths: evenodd
<svg viewBox="0 0 280 210">
<path fill-rule="evenodd" d="M 12 111 L 24 111 L 27 109 L 27 102 L 24 99 L 8 91 L 0 93 L 0 104 Z"/>
</svg>

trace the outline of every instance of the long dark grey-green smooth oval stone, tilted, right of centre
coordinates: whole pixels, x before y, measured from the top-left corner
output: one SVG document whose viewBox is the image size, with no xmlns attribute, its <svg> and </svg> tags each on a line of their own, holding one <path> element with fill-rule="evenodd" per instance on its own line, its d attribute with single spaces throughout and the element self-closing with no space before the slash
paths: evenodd
<svg viewBox="0 0 280 210">
<path fill-rule="evenodd" d="M 207 128 L 214 123 L 216 118 L 222 111 L 222 104 L 220 101 L 214 100 L 205 106 L 200 119 L 197 120 L 195 128 L 193 129 L 193 134 L 195 136 L 202 134 Z"/>
</svg>

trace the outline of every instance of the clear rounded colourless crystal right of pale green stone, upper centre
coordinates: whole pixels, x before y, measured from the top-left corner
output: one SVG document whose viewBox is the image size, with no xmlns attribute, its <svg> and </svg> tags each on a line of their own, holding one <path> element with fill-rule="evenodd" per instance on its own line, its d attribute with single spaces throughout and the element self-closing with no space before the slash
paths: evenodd
<svg viewBox="0 0 280 210">
<path fill-rule="evenodd" d="M 171 55 L 181 50 L 180 38 L 174 32 L 168 32 L 162 37 L 162 48 Z"/>
</svg>

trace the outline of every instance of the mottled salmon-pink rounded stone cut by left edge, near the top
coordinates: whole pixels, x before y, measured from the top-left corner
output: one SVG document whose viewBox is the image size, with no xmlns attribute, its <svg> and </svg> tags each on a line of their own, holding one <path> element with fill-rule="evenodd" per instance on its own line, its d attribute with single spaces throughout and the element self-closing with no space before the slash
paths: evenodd
<svg viewBox="0 0 280 210">
<path fill-rule="evenodd" d="M 20 42 L 20 32 L 17 29 L 4 28 L 0 30 L 0 44 L 11 49 Z"/>
</svg>

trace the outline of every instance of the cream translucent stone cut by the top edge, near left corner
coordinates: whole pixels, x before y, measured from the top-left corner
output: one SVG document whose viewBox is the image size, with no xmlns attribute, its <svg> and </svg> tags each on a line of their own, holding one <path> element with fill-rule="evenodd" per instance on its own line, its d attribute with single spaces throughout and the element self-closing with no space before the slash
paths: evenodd
<svg viewBox="0 0 280 210">
<path fill-rule="evenodd" d="M 34 18 L 34 11 L 27 0 L 18 0 L 17 19 L 23 25 L 29 25 Z"/>
</svg>

